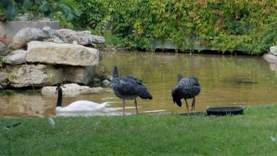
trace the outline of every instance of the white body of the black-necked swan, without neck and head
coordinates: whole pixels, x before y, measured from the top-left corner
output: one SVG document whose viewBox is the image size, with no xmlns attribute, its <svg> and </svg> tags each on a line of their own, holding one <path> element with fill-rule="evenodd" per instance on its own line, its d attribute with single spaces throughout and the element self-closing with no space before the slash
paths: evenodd
<svg viewBox="0 0 277 156">
<path fill-rule="evenodd" d="M 91 101 L 75 101 L 66 107 L 56 107 L 56 112 L 96 112 L 105 110 L 107 102 L 93 103 Z"/>
</svg>

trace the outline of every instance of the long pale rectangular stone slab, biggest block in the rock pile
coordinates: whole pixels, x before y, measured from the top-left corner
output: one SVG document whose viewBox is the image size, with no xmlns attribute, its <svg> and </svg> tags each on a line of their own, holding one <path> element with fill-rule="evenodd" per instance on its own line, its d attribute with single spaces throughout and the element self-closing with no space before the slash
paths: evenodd
<svg viewBox="0 0 277 156">
<path fill-rule="evenodd" d="M 26 62 L 94 66 L 99 63 L 100 52 L 78 44 L 58 44 L 33 41 L 28 43 Z"/>
</svg>

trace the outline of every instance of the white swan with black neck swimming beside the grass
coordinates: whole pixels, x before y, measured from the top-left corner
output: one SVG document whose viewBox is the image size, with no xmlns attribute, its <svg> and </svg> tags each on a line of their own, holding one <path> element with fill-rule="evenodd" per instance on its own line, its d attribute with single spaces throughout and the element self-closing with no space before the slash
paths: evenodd
<svg viewBox="0 0 277 156">
<path fill-rule="evenodd" d="M 62 107 L 62 88 L 57 86 L 55 94 L 57 94 L 57 105 L 56 112 L 95 112 L 100 110 L 105 110 L 106 105 L 109 105 L 107 102 L 105 103 L 93 103 L 91 101 L 75 101 L 66 107 Z"/>
</svg>

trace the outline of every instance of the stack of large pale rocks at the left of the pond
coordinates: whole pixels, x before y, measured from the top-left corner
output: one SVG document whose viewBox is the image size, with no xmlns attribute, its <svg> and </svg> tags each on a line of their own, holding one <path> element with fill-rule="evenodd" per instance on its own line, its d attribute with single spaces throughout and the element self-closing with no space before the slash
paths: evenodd
<svg viewBox="0 0 277 156">
<path fill-rule="evenodd" d="M 27 87 L 57 83 L 93 83 L 93 67 L 102 53 L 91 48 L 105 43 L 102 36 L 70 29 L 22 28 L 10 44 L 0 42 L 4 67 L 0 86 Z M 6 72 L 3 72 L 6 71 Z"/>
</svg>

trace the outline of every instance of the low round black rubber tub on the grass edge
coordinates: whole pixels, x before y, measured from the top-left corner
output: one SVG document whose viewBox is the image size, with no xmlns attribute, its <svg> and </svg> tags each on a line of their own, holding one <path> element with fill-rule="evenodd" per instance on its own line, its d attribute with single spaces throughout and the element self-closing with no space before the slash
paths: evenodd
<svg viewBox="0 0 277 156">
<path fill-rule="evenodd" d="M 208 115 L 223 116 L 226 114 L 237 115 L 243 114 L 244 107 L 208 107 L 206 108 Z"/>
</svg>

